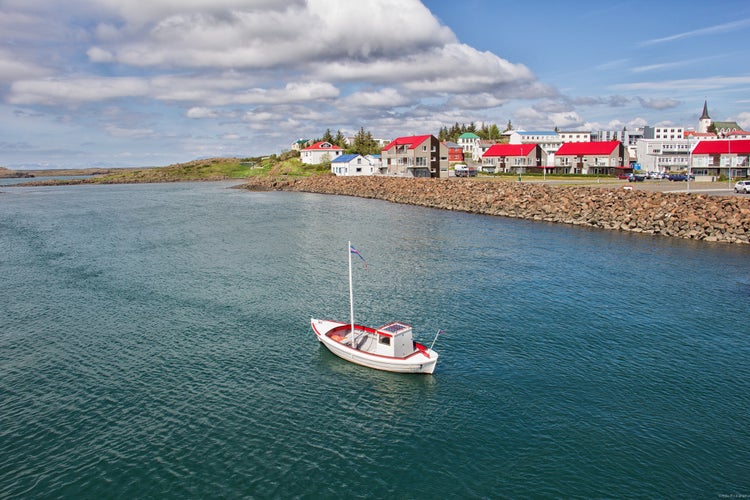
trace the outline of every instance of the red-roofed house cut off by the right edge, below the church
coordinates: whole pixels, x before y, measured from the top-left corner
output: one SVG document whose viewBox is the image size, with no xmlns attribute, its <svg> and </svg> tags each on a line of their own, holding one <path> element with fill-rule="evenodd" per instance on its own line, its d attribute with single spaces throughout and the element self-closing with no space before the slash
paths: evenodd
<svg viewBox="0 0 750 500">
<path fill-rule="evenodd" d="M 690 156 L 696 177 L 750 177 L 750 139 L 701 141 Z"/>
</svg>

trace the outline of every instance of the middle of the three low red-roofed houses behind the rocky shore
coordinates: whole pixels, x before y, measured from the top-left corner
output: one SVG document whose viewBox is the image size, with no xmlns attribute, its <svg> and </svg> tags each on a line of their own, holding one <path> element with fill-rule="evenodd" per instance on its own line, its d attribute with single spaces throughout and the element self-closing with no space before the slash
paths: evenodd
<svg viewBox="0 0 750 500">
<path fill-rule="evenodd" d="M 628 173 L 630 158 L 620 141 L 566 142 L 555 153 L 555 168 L 568 174 L 616 175 Z"/>
</svg>

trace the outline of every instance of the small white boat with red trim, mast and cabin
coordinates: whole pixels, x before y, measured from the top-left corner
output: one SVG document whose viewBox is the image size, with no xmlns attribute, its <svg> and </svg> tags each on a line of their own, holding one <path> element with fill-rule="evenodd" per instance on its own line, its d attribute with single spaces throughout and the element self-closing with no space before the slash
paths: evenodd
<svg viewBox="0 0 750 500">
<path fill-rule="evenodd" d="M 430 347 L 427 347 L 414 341 L 411 326 L 404 323 L 394 321 L 379 328 L 354 323 L 352 253 L 360 258 L 362 255 L 351 243 L 347 252 L 350 322 L 311 319 L 310 325 L 318 340 L 336 356 L 358 365 L 398 373 L 432 373 L 438 360 L 438 353 L 432 350 L 432 346 L 440 330 Z"/>
</svg>

